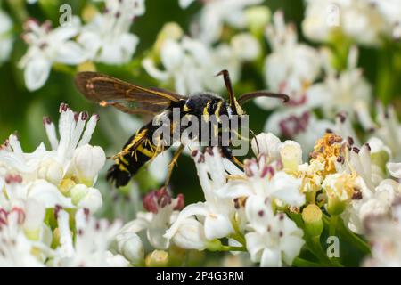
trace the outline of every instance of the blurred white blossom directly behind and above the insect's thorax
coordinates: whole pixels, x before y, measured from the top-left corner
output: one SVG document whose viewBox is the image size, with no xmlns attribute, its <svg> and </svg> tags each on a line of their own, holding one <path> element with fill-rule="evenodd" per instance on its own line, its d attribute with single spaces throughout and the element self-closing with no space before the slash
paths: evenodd
<svg viewBox="0 0 401 285">
<path fill-rule="evenodd" d="M 243 40 L 246 47 L 239 46 Z M 249 34 L 233 37 L 231 45 L 217 47 L 206 45 L 191 37 L 167 37 L 160 44 L 160 61 L 164 69 L 157 67 L 152 58 L 143 60 L 143 68 L 163 82 L 173 82 L 179 94 L 192 94 L 204 90 L 221 91 L 221 79 L 214 77 L 222 69 L 230 70 L 235 83 L 240 77 L 242 61 L 250 61 L 258 56 L 259 46 Z"/>
</svg>

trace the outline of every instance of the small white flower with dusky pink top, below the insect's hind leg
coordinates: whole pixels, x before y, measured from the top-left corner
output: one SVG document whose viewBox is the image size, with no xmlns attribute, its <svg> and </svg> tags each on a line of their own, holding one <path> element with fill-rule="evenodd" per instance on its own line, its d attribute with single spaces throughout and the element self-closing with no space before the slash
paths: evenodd
<svg viewBox="0 0 401 285">
<path fill-rule="evenodd" d="M 172 199 L 165 188 L 151 191 L 143 198 L 143 207 L 146 212 L 138 212 L 136 219 L 124 225 L 121 232 L 143 232 L 151 246 L 158 249 L 167 249 L 170 240 L 164 237 L 171 224 L 176 221 L 178 210 L 184 208 L 184 196 L 179 194 Z"/>
</svg>

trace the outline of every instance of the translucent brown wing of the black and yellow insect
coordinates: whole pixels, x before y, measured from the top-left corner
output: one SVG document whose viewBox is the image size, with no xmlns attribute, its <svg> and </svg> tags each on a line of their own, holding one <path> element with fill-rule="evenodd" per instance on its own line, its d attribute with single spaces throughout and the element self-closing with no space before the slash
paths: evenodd
<svg viewBox="0 0 401 285">
<path fill-rule="evenodd" d="M 129 114 L 154 115 L 184 96 L 159 88 L 144 88 L 97 72 L 79 72 L 75 85 L 86 99 Z"/>
</svg>

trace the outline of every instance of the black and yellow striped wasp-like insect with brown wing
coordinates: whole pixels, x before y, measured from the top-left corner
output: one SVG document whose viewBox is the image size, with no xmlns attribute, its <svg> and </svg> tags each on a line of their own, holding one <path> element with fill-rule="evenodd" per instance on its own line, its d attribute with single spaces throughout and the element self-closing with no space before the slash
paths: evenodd
<svg viewBox="0 0 401 285">
<path fill-rule="evenodd" d="M 151 115 L 153 117 L 163 114 L 163 116 L 170 118 L 175 108 L 179 109 L 180 116 L 192 115 L 200 120 L 212 114 L 216 115 L 217 118 L 222 115 L 228 117 L 238 115 L 241 117 L 245 115 L 241 106 L 250 99 L 261 96 L 281 98 L 284 102 L 287 102 L 289 99 L 285 94 L 258 91 L 242 94 L 237 100 L 233 94 L 233 87 L 228 71 L 223 70 L 217 75 L 224 77 L 229 95 L 228 102 L 217 94 L 204 92 L 183 96 L 159 88 L 144 88 L 129 84 L 97 72 L 80 72 L 76 77 L 75 83 L 80 93 L 84 94 L 90 101 L 97 102 L 101 106 L 113 106 L 126 113 Z M 168 149 L 169 145 L 153 142 L 152 136 L 159 127 L 155 126 L 151 120 L 128 139 L 122 151 L 113 157 L 115 164 L 108 171 L 108 180 L 114 182 L 117 187 L 126 185 L 130 178 L 146 162 Z M 182 127 L 176 130 L 174 124 L 170 127 L 170 134 L 174 134 L 175 131 L 180 133 L 184 131 Z M 160 137 L 160 142 L 163 142 L 162 137 Z M 176 159 L 183 150 L 184 144 L 181 143 L 168 166 L 168 179 L 176 163 Z M 221 146 L 221 150 L 226 158 L 241 165 L 241 162 L 233 157 L 228 147 Z"/>
</svg>

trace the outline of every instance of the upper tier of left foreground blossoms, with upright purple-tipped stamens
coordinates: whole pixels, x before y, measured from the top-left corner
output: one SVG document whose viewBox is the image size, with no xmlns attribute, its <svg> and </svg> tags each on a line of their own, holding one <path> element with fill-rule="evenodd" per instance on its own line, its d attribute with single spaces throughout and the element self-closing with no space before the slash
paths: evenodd
<svg viewBox="0 0 401 285">
<path fill-rule="evenodd" d="M 95 210 L 102 206 L 102 196 L 92 186 L 105 155 L 100 147 L 88 144 L 99 118 L 94 115 L 86 123 L 86 112 L 74 113 L 66 104 L 61 104 L 60 111 L 60 140 L 53 122 L 44 118 L 51 151 L 41 143 L 35 151 L 25 153 L 13 134 L 0 149 L 2 207 L 11 209 L 27 199 L 36 199 L 45 208 L 60 205 Z"/>
</svg>

